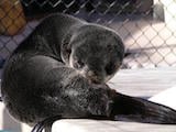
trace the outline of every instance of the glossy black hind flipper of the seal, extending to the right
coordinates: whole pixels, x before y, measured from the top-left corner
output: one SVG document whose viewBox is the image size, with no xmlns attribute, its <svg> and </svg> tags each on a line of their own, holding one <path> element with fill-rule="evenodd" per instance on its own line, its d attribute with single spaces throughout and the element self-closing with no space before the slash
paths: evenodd
<svg viewBox="0 0 176 132">
<path fill-rule="evenodd" d="M 121 94 L 114 98 L 111 116 L 121 121 L 176 124 L 176 111 L 172 108 Z"/>
</svg>

